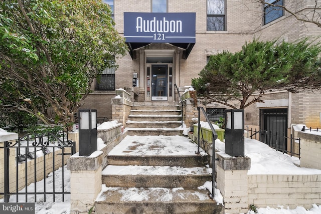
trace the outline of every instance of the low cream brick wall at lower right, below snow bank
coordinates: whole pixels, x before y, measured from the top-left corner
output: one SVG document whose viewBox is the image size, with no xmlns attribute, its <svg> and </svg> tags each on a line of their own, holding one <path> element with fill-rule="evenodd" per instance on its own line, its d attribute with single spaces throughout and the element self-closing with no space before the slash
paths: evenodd
<svg viewBox="0 0 321 214">
<path fill-rule="evenodd" d="M 320 179 L 321 174 L 248 175 L 249 205 L 310 208 L 313 203 L 321 203 Z"/>
</svg>

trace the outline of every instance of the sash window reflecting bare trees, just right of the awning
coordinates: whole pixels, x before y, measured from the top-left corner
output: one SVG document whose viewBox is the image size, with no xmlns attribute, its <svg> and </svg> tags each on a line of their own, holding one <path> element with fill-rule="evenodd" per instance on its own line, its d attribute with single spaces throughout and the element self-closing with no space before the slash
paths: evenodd
<svg viewBox="0 0 321 214">
<path fill-rule="evenodd" d="M 207 30 L 225 31 L 225 0 L 207 0 Z"/>
</svg>

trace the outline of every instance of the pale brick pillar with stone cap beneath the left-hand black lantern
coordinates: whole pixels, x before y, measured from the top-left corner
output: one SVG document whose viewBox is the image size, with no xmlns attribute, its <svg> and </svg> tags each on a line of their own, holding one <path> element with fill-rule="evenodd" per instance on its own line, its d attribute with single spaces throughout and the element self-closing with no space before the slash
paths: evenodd
<svg viewBox="0 0 321 214">
<path fill-rule="evenodd" d="M 102 151 L 95 151 L 90 156 L 72 155 L 67 162 L 70 170 L 70 213 L 88 213 L 95 205 L 101 191 Z"/>
</svg>

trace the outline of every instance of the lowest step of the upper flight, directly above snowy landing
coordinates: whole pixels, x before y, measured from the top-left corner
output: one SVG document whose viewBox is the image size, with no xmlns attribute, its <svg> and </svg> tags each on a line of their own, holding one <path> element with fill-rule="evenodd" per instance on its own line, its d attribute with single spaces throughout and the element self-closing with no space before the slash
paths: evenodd
<svg viewBox="0 0 321 214">
<path fill-rule="evenodd" d="M 128 131 L 128 135 L 134 136 L 146 136 L 146 135 L 166 135 L 166 136 L 173 136 L 173 135 L 182 135 L 182 129 L 175 129 L 175 128 L 126 128 Z"/>
</svg>

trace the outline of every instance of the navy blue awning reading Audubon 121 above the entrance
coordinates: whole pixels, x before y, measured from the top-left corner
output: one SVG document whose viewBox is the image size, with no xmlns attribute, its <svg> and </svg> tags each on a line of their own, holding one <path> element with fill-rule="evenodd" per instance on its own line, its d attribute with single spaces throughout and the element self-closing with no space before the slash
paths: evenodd
<svg viewBox="0 0 321 214">
<path fill-rule="evenodd" d="M 195 13 L 124 13 L 124 37 L 131 58 L 134 50 L 151 43 L 169 43 L 184 49 L 187 59 L 196 41 Z"/>
</svg>

